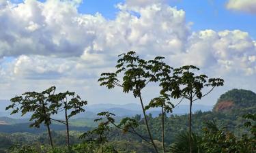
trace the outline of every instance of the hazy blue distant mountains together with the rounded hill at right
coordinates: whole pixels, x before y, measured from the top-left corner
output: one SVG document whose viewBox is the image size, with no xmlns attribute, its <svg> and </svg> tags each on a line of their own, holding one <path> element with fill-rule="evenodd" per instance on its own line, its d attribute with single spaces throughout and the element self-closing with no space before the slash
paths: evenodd
<svg viewBox="0 0 256 153">
<path fill-rule="evenodd" d="M 201 112 L 208 112 L 213 110 L 214 112 L 253 112 L 255 110 L 255 99 L 256 93 L 250 90 L 238 90 L 233 89 L 225 92 L 218 99 L 214 109 L 208 105 L 193 105 L 193 112 L 201 110 Z M 29 117 L 31 114 L 26 114 L 23 118 L 20 118 L 20 114 L 10 115 L 10 111 L 5 111 L 5 107 L 10 105 L 9 101 L 0 100 L 0 132 L 15 133 L 17 131 L 37 133 L 44 131 L 40 129 L 29 129 Z M 178 105 L 173 109 L 172 114 L 182 115 L 188 114 L 188 105 Z M 141 105 L 137 103 L 128 103 L 124 105 L 111 104 L 111 103 L 100 103 L 94 105 L 86 105 L 85 113 L 77 114 L 70 120 L 70 126 L 73 130 L 83 131 L 90 129 L 91 127 L 97 126 L 98 123 L 94 122 L 95 118 L 98 118 L 99 112 L 111 112 L 116 114 L 115 120 L 119 122 L 126 116 L 135 116 L 136 114 L 142 114 Z M 147 114 L 152 114 L 153 117 L 160 114 L 160 109 L 150 109 Z M 63 118 L 63 114 L 57 114 L 54 118 Z M 45 128 L 45 127 L 43 127 Z M 65 126 L 57 122 L 53 122 L 53 129 L 55 131 L 65 129 Z"/>
</svg>

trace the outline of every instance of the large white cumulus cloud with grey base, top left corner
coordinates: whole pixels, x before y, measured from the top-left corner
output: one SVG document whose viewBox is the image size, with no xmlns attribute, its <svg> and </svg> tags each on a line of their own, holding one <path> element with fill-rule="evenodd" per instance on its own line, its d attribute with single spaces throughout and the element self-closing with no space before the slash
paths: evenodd
<svg viewBox="0 0 256 153">
<path fill-rule="evenodd" d="M 75 17 L 79 14 L 70 1 L 26 0 L 5 5 L 0 10 L 0 56 L 80 55 L 94 35 L 88 33 L 92 27 L 79 26 Z"/>
</svg>

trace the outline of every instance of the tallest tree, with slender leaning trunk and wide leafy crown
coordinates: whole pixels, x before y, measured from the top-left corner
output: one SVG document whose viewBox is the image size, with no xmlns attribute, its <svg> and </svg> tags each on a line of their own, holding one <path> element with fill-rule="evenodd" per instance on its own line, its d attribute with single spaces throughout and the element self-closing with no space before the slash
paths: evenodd
<svg viewBox="0 0 256 153">
<path fill-rule="evenodd" d="M 145 114 L 146 109 L 144 107 L 141 90 L 143 90 L 143 88 L 150 82 L 158 82 L 158 75 L 160 75 L 163 68 L 165 68 L 166 71 L 170 71 L 171 67 L 165 65 L 165 63 L 161 61 L 163 57 L 156 57 L 154 60 L 145 61 L 139 58 L 139 56 L 136 56 L 136 53 L 133 51 L 127 52 L 126 54 L 120 54 L 119 57 L 116 65 L 117 71 L 115 71 L 115 73 L 102 73 L 101 78 L 98 80 L 101 82 L 100 86 L 106 86 L 109 89 L 119 86 L 123 89 L 124 93 L 132 92 L 133 96 L 139 99 L 148 137 L 150 138 L 154 150 L 158 153 Z M 122 75 L 121 83 L 119 77 Z M 130 122 L 130 120 L 126 121 Z"/>
</svg>

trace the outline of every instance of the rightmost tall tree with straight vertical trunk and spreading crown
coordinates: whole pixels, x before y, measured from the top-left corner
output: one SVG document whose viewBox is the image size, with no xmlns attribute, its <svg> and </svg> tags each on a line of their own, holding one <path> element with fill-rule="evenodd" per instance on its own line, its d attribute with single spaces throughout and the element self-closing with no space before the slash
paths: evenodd
<svg viewBox="0 0 256 153">
<path fill-rule="evenodd" d="M 198 67 L 186 65 L 173 70 L 171 77 L 162 78 L 160 86 L 162 86 L 161 94 L 164 97 L 173 97 L 175 99 L 188 99 L 189 107 L 189 146 L 192 153 L 192 104 L 194 101 L 208 95 L 216 86 L 223 86 L 224 80 L 219 78 L 208 79 L 207 75 L 196 75 L 194 71 L 199 71 Z M 208 80 L 207 80 L 208 79 Z M 203 94 L 202 90 L 210 87 L 210 90 Z"/>
</svg>

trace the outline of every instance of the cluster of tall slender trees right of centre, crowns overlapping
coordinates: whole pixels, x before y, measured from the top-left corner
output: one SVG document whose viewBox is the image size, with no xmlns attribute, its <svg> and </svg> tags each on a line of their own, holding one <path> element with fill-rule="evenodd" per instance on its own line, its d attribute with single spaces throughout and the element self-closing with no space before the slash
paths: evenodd
<svg viewBox="0 0 256 153">
<path fill-rule="evenodd" d="M 141 139 L 147 141 L 147 137 L 150 138 L 148 143 L 151 143 L 156 153 L 159 149 L 156 147 L 152 132 L 150 130 L 149 122 L 147 120 L 145 111 L 151 107 L 161 107 L 162 109 L 162 120 L 161 120 L 161 131 L 162 131 L 162 151 L 165 150 L 165 114 L 172 112 L 175 107 L 171 103 L 173 99 L 187 99 L 190 102 L 190 113 L 189 113 L 189 135 L 192 135 L 192 104 L 194 101 L 201 99 L 208 95 L 216 86 L 223 86 L 224 80 L 219 78 L 211 78 L 207 80 L 207 75 L 195 75 L 194 71 L 198 71 L 199 68 L 188 65 L 173 69 L 162 61 L 164 57 L 157 56 L 153 60 L 145 61 L 135 52 L 128 52 L 127 54 L 119 55 L 121 58 L 117 61 L 117 71 L 115 73 L 102 73 L 102 78 L 99 79 L 101 86 L 106 86 L 111 89 L 115 86 L 119 86 L 123 89 L 124 93 L 132 92 L 135 98 L 138 98 L 143 110 L 143 117 L 145 120 L 145 126 L 147 129 L 147 136 L 140 135 L 135 131 L 139 124 L 137 120 L 131 118 L 124 118 L 121 124 L 116 125 L 113 118 L 106 116 L 114 126 L 122 129 L 124 132 L 133 133 L 141 137 Z M 173 71 L 173 72 L 172 72 Z M 120 73 L 123 76 L 122 81 L 119 80 Z M 122 83 L 120 83 L 122 82 Z M 150 82 L 156 82 L 162 89 L 160 90 L 160 96 L 153 98 L 150 104 L 144 107 L 143 97 L 141 90 L 143 90 Z M 203 95 L 203 88 L 210 86 L 210 91 Z M 182 101 L 181 100 L 181 101 Z M 130 131 L 132 129 L 132 131 Z M 160 128 L 159 128 L 160 129 Z M 190 153 L 192 153 L 192 140 L 189 137 Z"/>
</svg>

